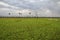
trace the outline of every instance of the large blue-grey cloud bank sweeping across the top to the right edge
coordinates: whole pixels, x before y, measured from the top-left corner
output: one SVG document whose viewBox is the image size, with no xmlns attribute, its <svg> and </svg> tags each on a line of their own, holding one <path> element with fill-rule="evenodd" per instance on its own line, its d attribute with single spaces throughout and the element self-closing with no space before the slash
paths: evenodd
<svg viewBox="0 0 60 40">
<path fill-rule="evenodd" d="M 49 9 L 52 13 L 56 15 L 60 15 L 60 6 L 57 5 L 57 2 L 60 0 L 0 0 L 9 5 L 13 5 L 15 7 L 23 8 L 23 9 L 31 9 L 31 10 L 43 10 Z M 4 7 L 0 5 L 0 8 Z M 10 7 L 6 7 L 10 8 Z"/>
</svg>

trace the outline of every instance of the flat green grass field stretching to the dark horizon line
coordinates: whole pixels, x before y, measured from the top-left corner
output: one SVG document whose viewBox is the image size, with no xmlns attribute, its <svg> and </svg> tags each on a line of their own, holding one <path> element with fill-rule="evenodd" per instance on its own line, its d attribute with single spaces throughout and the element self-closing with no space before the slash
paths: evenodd
<svg viewBox="0 0 60 40">
<path fill-rule="evenodd" d="M 60 18 L 0 18 L 0 40 L 60 40 Z"/>
</svg>

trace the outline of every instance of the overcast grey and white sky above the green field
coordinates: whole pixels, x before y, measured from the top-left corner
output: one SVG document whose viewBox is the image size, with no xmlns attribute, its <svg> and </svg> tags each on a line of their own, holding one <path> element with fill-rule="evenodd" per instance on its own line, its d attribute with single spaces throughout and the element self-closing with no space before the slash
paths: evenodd
<svg viewBox="0 0 60 40">
<path fill-rule="evenodd" d="M 60 0 L 0 0 L 0 16 L 26 10 L 33 10 L 32 12 L 37 12 L 38 16 L 60 17 Z"/>
</svg>

